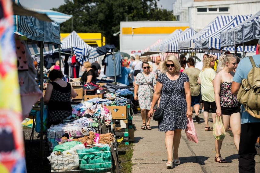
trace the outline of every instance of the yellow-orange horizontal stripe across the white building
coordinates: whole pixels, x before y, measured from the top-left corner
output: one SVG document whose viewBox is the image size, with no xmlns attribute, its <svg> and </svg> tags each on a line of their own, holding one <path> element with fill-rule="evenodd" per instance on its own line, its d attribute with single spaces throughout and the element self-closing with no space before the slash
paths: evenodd
<svg viewBox="0 0 260 173">
<path fill-rule="evenodd" d="M 122 34 L 171 34 L 175 30 L 185 30 L 189 26 L 122 28 Z"/>
</svg>

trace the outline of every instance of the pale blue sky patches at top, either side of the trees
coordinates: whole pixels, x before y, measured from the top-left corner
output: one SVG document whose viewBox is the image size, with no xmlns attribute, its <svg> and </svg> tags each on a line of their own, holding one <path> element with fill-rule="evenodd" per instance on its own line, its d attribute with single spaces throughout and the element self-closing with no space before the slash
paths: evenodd
<svg viewBox="0 0 260 173">
<path fill-rule="evenodd" d="M 27 8 L 45 10 L 58 8 L 60 5 L 64 4 L 64 0 L 19 0 L 19 2 Z M 172 0 L 160 0 L 157 1 L 157 5 L 158 7 L 162 6 L 164 9 L 172 10 L 172 2 Z"/>
</svg>

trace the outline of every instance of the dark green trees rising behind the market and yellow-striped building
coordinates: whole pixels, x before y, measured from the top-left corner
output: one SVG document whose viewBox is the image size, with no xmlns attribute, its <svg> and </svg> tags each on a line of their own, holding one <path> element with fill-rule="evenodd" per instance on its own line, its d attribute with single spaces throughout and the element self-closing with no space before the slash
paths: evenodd
<svg viewBox="0 0 260 173">
<path fill-rule="evenodd" d="M 107 44 L 119 48 L 121 21 L 175 20 L 172 11 L 157 7 L 156 0 L 65 0 L 65 4 L 52 9 L 73 15 L 73 30 L 78 33 L 102 33 Z M 72 19 L 60 25 L 61 33 L 71 32 Z"/>
</svg>

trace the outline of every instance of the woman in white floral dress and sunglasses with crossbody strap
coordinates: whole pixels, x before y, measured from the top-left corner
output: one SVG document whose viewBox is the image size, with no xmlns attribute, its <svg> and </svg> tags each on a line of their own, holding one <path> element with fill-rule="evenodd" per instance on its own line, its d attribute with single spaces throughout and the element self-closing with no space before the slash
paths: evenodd
<svg viewBox="0 0 260 173">
<path fill-rule="evenodd" d="M 156 86 L 156 79 L 155 75 L 150 73 L 150 66 L 148 62 L 143 62 L 142 68 L 143 72 L 136 75 L 134 99 L 138 100 L 141 109 L 141 116 L 143 119 L 141 129 L 145 129 L 146 126 L 147 130 L 151 130 L 150 118 L 148 118 L 147 115 L 151 108 L 153 91 L 155 90 Z"/>
</svg>

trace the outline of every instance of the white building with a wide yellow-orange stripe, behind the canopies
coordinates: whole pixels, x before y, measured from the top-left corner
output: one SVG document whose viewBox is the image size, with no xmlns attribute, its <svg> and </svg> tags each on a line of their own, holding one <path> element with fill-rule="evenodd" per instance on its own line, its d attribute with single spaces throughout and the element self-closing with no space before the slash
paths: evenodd
<svg viewBox="0 0 260 173">
<path fill-rule="evenodd" d="M 186 28 L 189 28 L 189 22 L 185 21 L 120 22 L 120 51 L 128 54 L 141 52 L 158 39 Z"/>
</svg>

